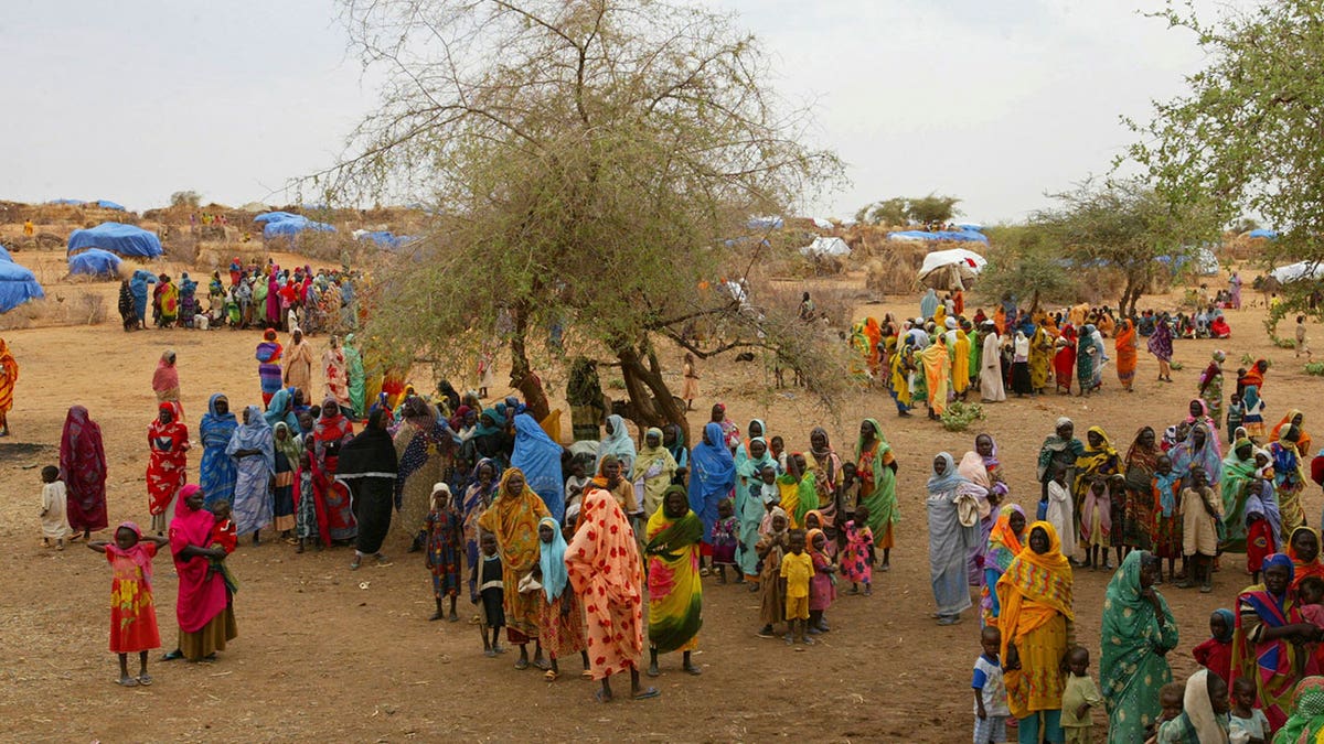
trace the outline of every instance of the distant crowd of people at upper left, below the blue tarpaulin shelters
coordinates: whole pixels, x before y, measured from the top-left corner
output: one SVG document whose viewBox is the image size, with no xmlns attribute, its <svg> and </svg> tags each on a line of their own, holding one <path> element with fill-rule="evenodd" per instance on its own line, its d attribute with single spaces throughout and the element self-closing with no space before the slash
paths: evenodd
<svg viewBox="0 0 1324 744">
<path fill-rule="evenodd" d="M 220 270 L 212 273 L 205 298 L 188 271 L 175 281 L 169 274 L 138 269 L 120 282 L 118 308 L 124 331 L 147 327 L 148 303 L 151 322 L 158 328 L 293 331 L 302 327 L 307 334 L 352 330 L 360 311 L 354 294 L 356 282 L 361 282 L 361 275 L 351 271 L 314 273 L 307 265 L 281 269 L 270 258 L 262 266 L 245 265 L 234 257 L 228 275 Z"/>
</svg>

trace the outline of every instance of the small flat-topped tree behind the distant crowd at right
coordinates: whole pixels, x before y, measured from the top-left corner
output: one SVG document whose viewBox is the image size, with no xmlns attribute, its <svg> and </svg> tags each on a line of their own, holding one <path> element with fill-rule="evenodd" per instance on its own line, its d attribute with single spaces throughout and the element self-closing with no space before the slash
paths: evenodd
<svg viewBox="0 0 1324 744">
<path fill-rule="evenodd" d="M 1103 265 L 1124 281 L 1117 310 L 1135 314 L 1160 259 L 1185 261 L 1192 242 L 1211 224 L 1193 217 L 1200 210 L 1169 203 L 1140 180 L 1087 180 L 1075 191 L 1053 195 L 1057 209 L 1039 212 L 1031 224 L 1055 241 L 1078 265 Z"/>
</svg>

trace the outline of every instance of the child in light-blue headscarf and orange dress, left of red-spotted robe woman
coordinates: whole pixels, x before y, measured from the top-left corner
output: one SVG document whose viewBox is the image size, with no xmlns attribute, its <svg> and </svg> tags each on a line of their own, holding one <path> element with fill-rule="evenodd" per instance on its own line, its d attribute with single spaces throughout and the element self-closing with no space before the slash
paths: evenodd
<svg viewBox="0 0 1324 744">
<path fill-rule="evenodd" d="M 584 622 L 575 589 L 569 585 L 565 571 L 565 537 L 551 516 L 538 523 L 539 559 L 534 564 L 534 577 L 543 582 L 538 597 L 542 600 L 538 610 L 538 642 L 551 657 L 551 667 L 544 679 L 555 682 L 561 675 L 556 659 L 579 653 L 584 662 L 584 675 L 588 671 L 588 642 L 584 639 Z"/>
</svg>

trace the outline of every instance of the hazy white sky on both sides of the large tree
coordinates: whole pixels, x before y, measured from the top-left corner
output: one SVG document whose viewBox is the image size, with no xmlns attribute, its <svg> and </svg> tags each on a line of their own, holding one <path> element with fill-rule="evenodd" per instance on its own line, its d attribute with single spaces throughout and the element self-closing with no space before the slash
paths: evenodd
<svg viewBox="0 0 1324 744">
<path fill-rule="evenodd" d="M 939 192 L 968 220 L 1023 218 L 1046 191 L 1107 171 L 1131 139 L 1117 116 L 1145 118 L 1201 61 L 1189 34 L 1139 15 L 1157 0 L 706 3 L 767 42 L 779 93 L 813 102 L 816 144 L 847 162 L 849 188 L 806 208 L 820 216 Z M 283 201 L 377 97 L 338 13 L 334 0 L 7 0 L 0 199 Z"/>
</svg>

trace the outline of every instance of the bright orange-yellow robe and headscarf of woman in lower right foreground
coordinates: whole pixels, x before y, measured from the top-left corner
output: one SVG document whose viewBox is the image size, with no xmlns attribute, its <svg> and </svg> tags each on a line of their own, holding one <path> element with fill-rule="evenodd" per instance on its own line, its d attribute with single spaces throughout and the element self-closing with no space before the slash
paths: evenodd
<svg viewBox="0 0 1324 744">
<path fill-rule="evenodd" d="M 1029 545 L 1021 548 L 997 582 L 1001 658 L 1008 658 L 1012 643 L 1021 657 L 1021 669 L 1004 676 L 1008 708 L 1017 719 L 1062 710 L 1062 655 L 1067 651 L 1067 624 L 1075 620 L 1071 564 L 1062 555 L 1062 541 L 1047 522 L 1030 524 L 1026 535 L 1034 530 L 1049 536 L 1049 549 L 1039 555 Z"/>
</svg>

